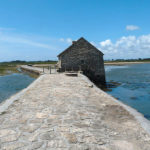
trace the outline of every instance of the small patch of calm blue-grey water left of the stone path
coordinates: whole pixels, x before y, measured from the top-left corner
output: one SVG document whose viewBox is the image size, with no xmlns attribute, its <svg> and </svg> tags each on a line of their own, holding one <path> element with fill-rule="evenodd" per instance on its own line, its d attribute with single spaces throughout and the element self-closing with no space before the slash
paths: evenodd
<svg viewBox="0 0 150 150">
<path fill-rule="evenodd" d="M 0 102 L 26 88 L 34 80 L 35 78 L 21 73 L 0 76 Z"/>
</svg>

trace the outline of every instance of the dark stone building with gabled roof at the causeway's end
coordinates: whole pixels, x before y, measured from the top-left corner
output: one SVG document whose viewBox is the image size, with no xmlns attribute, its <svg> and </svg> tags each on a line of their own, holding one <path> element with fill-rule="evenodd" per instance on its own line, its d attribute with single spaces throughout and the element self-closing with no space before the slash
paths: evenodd
<svg viewBox="0 0 150 150">
<path fill-rule="evenodd" d="M 103 55 L 87 40 L 80 38 L 58 55 L 59 71 L 81 70 L 94 82 L 105 84 Z"/>
</svg>

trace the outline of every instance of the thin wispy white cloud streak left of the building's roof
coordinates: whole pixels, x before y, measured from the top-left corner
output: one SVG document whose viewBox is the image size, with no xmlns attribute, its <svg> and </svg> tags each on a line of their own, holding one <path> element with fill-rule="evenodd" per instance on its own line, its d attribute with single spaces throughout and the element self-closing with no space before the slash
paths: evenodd
<svg viewBox="0 0 150 150">
<path fill-rule="evenodd" d="M 42 36 L 34 36 L 32 34 L 24 35 L 24 34 L 15 34 L 15 28 L 3 28 L 0 27 L 0 44 L 3 46 L 12 45 L 21 45 L 22 47 L 35 47 L 35 48 L 43 48 L 43 49 L 55 49 L 55 46 L 52 46 L 48 42 L 50 42 L 50 38 L 45 38 Z"/>
</svg>

